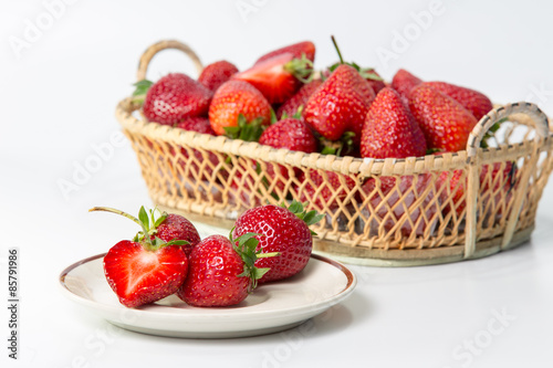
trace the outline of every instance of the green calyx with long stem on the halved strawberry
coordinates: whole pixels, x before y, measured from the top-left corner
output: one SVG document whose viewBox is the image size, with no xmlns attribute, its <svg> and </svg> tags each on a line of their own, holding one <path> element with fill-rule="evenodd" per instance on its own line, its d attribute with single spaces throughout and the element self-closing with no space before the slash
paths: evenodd
<svg viewBox="0 0 553 368">
<path fill-rule="evenodd" d="M 159 227 L 165 221 L 165 219 L 167 219 L 167 212 L 161 213 L 157 208 L 146 211 L 144 206 L 140 207 L 140 210 L 138 211 L 138 219 L 132 214 L 109 207 L 94 207 L 88 210 L 88 212 L 94 211 L 105 211 L 121 214 L 136 222 L 142 228 L 142 231 L 138 231 L 136 233 L 133 241 L 140 243 L 147 251 L 155 252 L 164 246 L 188 244 L 186 240 L 171 240 L 169 242 L 166 242 L 156 236 L 157 227 Z"/>
</svg>

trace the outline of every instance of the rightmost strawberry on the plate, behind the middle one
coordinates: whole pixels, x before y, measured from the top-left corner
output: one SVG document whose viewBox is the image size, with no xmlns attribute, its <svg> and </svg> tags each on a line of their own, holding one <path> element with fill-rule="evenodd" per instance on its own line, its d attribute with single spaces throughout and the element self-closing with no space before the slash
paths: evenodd
<svg viewBox="0 0 553 368">
<path fill-rule="evenodd" d="M 257 233 L 258 251 L 280 253 L 275 257 L 255 261 L 255 266 L 270 269 L 259 282 L 283 280 L 295 275 L 307 264 L 313 248 L 309 227 L 321 219 L 322 215 L 315 211 L 305 212 L 296 201 L 288 209 L 267 204 L 243 212 L 234 223 L 232 236 Z"/>
</svg>

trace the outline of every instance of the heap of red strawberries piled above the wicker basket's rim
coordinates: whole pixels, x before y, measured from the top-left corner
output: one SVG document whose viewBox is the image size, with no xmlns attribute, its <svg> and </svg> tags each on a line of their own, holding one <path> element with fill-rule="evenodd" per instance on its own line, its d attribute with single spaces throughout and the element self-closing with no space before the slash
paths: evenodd
<svg viewBox="0 0 553 368">
<path fill-rule="evenodd" d="M 333 38 L 334 41 L 334 38 Z M 197 81 L 174 73 L 142 81 L 146 118 L 210 135 L 304 153 L 373 158 L 465 149 L 492 104 L 483 94 L 422 82 L 399 70 L 390 84 L 373 69 L 340 62 L 316 73 L 305 41 L 259 57 L 240 72 L 228 61 Z"/>
</svg>

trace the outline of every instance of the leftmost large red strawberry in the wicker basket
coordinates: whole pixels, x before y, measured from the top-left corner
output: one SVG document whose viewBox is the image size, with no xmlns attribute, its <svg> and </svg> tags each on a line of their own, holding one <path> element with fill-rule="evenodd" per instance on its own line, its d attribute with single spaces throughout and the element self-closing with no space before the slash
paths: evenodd
<svg viewBox="0 0 553 368">
<path fill-rule="evenodd" d="M 186 117 L 206 115 L 212 93 L 180 73 L 168 74 L 149 87 L 144 115 L 150 122 L 175 125 Z"/>
</svg>

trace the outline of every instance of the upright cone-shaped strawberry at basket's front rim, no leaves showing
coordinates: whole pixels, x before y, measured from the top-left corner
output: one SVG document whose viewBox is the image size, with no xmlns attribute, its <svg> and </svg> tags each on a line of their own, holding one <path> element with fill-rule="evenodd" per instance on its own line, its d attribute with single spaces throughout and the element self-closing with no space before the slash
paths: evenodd
<svg viewBox="0 0 553 368">
<path fill-rule="evenodd" d="M 374 158 L 426 155 L 422 130 L 399 94 L 389 87 L 378 93 L 368 109 L 361 136 L 361 155 Z"/>
</svg>

